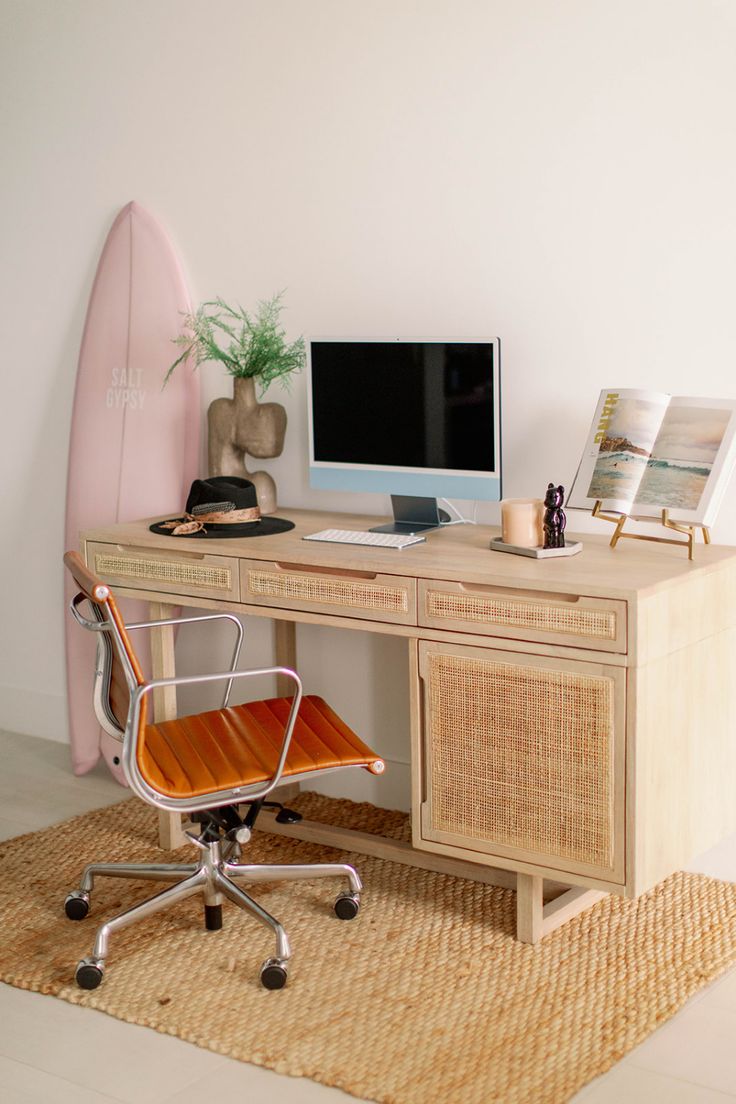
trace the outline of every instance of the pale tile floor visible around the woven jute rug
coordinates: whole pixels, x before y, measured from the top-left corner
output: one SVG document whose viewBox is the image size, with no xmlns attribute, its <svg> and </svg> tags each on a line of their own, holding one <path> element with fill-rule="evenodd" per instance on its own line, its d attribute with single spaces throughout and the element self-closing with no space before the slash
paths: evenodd
<svg viewBox="0 0 736 1104">
<path fill-rule="evenodd" d="M 0 733 L 0 838 L 120 800 L 104 767 L 75 778 L 65 745 Z M 736 881 L 736 838 L 691 868 Z M 147 1028 L 0 985 L 3 1104 L 191 1104 L 193 1100 L 339 1104 L 353 1101 L 311 1081 L 235 1062 Z M 736 1101 L 736 969 L 575 1104 L 726 1104 Z M 434 1102 L 427 1104 L 462 1104 Z M 540 1101 L 538 1104 L 544 1104 Z"/>
</svg>

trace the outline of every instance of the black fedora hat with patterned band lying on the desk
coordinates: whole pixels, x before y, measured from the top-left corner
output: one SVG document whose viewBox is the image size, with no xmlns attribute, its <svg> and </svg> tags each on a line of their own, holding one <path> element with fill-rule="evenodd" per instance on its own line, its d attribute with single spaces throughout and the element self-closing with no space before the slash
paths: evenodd
<svg viewBox="0 0 736 1104">
<path fill-rule="evenodd" d="M 213 476 L 194 480 L 183 517 L 157 521 L 149 529 L 164 537 L 270 537 L 294 529 L 294 522 L 263 518 L 249 479 Z"/>
</svg>

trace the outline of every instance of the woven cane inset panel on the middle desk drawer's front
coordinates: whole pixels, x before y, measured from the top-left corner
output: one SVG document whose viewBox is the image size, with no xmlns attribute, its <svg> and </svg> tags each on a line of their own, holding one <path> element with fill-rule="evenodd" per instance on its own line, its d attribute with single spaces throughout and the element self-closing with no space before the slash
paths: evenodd
<svg viewBox="0 0 736 1104">
<path fill-rule="evenodd" d="M 353 609 L 407 613 L 409 608 L 408 592 L 403 586 L 386 586 L 383 583 L 353 581 L 334 575 L 249 571 L 248 591 L 260 597 L 299 598 Z"/>
</svg>

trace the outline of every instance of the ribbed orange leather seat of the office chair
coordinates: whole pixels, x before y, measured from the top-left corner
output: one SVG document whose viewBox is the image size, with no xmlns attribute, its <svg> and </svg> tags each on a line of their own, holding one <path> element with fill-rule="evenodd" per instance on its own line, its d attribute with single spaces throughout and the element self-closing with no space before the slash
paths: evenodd
<svg viewBox="0 0 736 1104">
<path fill-rule="evenodd" d="M 276 769 L 290 707 L 290 698 L 271 698 L 147 724 L 138 749 L 140 773 L 167 797 L 266 782 Z M 384 769 L 322 698 L 307 694 L 282 777 L 337 766 L 364 766 L 373 774 Z"/>
</svg>

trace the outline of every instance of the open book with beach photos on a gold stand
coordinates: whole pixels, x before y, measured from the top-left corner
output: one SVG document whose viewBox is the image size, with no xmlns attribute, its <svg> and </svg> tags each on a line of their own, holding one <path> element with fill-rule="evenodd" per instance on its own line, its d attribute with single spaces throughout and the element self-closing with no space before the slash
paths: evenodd
<svg viewBox="0 0 736 1104">
<path fill-rule="evenodd" d="M 601 391 L 567 505 L 713 523 L 736 460 L 736 400 Z"/>
</svg>

